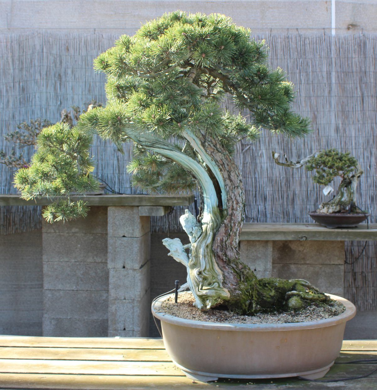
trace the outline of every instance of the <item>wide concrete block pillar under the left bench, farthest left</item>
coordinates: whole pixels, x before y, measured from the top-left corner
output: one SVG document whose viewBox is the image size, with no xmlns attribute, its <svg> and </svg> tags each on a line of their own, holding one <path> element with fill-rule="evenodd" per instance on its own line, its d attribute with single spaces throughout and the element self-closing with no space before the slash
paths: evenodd
<svg viewBox="0 0 377 390">
<path fill-rule="evenodd" d="M 65 223 L 42 219 L 42 243 L 43 336 L 107 336 L 107 207 Z"/>
</svg>

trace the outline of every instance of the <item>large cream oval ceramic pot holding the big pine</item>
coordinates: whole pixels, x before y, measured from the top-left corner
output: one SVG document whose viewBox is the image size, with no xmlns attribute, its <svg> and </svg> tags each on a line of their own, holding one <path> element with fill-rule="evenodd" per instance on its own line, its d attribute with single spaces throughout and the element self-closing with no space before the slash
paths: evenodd
<svg viewBox="0 0 377 390">
<path fill-rule="evenodd" d="M 159 313 L 166 351 L 191 379 L 322 378 L 342 347 L 345 324 L 356 314 L 345 298 L 330 295 L 345 305 L 342 314 L 319 321 L 289 324 L 228 324 L 182 319 Z"/>
</svg>

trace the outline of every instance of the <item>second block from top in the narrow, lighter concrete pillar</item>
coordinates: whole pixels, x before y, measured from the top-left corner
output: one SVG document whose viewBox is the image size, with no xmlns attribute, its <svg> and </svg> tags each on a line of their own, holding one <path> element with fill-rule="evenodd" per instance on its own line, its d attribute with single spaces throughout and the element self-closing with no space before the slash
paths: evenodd
<svg viewBox="0 0 377 390">
<path fill-rule="evenodd" d="M 108 268 L 139 269 L 149 258 L 149 232 L 140 238 L 108 238 Z"/>
</svg>

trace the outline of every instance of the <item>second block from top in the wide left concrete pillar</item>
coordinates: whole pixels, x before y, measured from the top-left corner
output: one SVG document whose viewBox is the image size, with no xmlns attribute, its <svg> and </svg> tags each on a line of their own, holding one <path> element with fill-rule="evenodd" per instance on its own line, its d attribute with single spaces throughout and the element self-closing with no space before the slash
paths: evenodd
<svg viewBox="0 0 377 390">
<path fill-rule="evenodd" d="M 92 233 L 43 233 L 43 261 L 107 263 L 107 235 Z"/>
</svg>

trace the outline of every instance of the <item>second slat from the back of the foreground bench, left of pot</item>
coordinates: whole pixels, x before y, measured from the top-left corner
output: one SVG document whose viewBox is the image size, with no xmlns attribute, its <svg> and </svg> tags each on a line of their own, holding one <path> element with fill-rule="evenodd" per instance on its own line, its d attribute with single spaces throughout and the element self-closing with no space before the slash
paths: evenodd
<svg viewBox="0 0 377 390">
<path fill-rule="evenodd" d="M 0 347 L 0 359 L 171 362 L 165 349 Z"/>
</svg>

